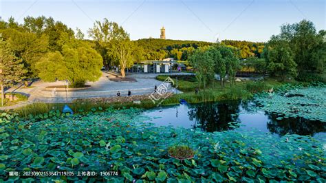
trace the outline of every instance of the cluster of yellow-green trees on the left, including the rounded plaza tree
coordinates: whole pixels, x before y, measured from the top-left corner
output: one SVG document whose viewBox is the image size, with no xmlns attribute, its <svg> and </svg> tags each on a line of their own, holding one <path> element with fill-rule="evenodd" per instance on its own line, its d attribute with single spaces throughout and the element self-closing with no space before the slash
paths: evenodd
<svg viewBox="0 0 326 183">
<path fill-rule="evenodd" d="M 10 83 L 21 78 L 40 77 L 47 81 L 69 80 L 79 87 L 87 80 L 100 77 L 102 57 L 94 44 L 76 39 L 78 34 L 75 36 L 71 28 L 51 17 L 25 17 L 23 24 L 13 18 L 8 22 L 0 21 L 0 34 L 6 45 L 1 48 L 6 52 L 1 52 L 0 58 L 10 58 L 16 63 L 8 69 L 14 70 L 19 65 L 24 70 L 15 78 L 7 76 Z"/>
</svg>

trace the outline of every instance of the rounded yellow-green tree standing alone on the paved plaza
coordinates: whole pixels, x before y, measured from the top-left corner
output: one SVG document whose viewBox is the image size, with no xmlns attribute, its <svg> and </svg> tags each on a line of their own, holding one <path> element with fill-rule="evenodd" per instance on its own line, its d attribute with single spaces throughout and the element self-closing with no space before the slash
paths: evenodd
<svg viewBox="0 0 326 183">
<path fill-rule="evenodd" d="M 74 40 L 77 41 L 77 40 Z M 102 73 L 102 57 L 87 43 L 65 44 L 61 52 L 49 52 L 36 64 L 39 77 L 45 81 L 69 80 L 73 87 L 96 81 Z"/>
</svg>

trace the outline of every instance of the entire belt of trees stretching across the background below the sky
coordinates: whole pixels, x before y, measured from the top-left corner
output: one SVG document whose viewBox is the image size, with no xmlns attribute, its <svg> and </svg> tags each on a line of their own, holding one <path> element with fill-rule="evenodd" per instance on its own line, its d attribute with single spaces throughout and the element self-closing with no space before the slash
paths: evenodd
<svg viewBox="0 0 326 183">
<path fill-rule="evenodd" d="M 43 16 L 25 17 L 22 24 L 13 18 L 0 21 L 0 34 L 1 72 L 17 70 L 19 73 L 12 78 L 8 74 L 4 78 L 2 74 L 1 80 L 6 80 L 1 83 L 3 86 L 23 78 L 40 77 L 47 81 L 69 80 L 72 85 L 80 87 L 88 80 L 97 80 L 102 65 L 108 69 L 120 67 L 124 76 L 124 69 L 134 62 L 167 57 L 190 61 L 197 69 L 201 85 L 209 83 L 214 73 L 223 79 L 228 76 L 232 84 L 239 61 L 257 72 L 283 79 L 292 76 L 313 80 L 316 78 L 314 74 L 325 76 L 326 32 L 316 32 L 314 24 L 306 20 L 283 25 L 281 33 L 272 36 L 268 43 L 169 39 L 131 41 L 118 23 L 108 19 L 96 21 L 88 31 L 91 40 L 85 40 L 79 29 L 74 32 L 61 21 Z"/>
</svg>

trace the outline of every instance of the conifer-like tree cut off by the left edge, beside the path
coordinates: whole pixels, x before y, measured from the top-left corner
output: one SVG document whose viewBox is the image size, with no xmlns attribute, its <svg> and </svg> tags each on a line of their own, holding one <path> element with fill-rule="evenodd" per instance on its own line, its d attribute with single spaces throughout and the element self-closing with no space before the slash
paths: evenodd
<svg viewBox="0 0 326 183">
<path fill-rule="evenodd" d="M 0 41 L 0 85 L 1 85 L 1 105 L 3 105 L 4 87 L 8 87 L 15 82 L 21 81 L 27 70 L 25 70 L 22 60 L 14 56 L 8 43 Z"/>
</svg>

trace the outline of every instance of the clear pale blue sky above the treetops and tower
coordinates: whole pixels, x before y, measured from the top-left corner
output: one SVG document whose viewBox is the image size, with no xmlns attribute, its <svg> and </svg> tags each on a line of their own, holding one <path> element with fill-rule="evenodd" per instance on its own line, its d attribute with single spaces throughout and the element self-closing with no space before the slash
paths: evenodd
<svg viewBox="0 0 326 183">
<path fill-rule="evenodd" d="M 160 38 L 268 41 L 284 23 L 303 19 L 325 30 L 326 0 L 0 0 L 3 20 L 53 17 L 85 34 L 104 18 L 122 25 L 132 40 Z"/>
</svg>

